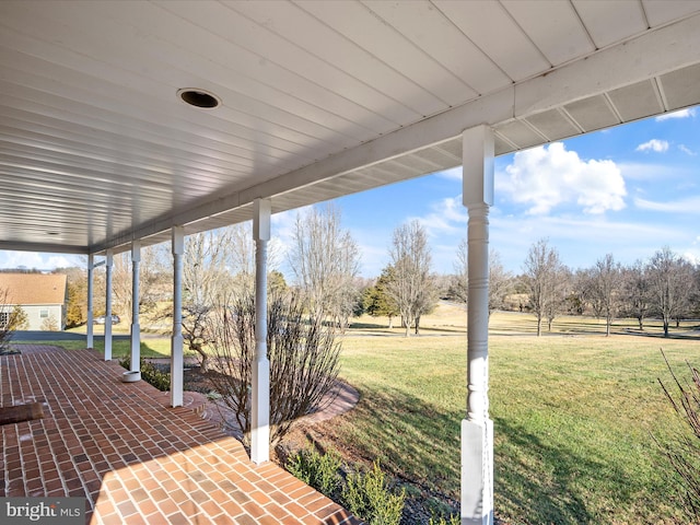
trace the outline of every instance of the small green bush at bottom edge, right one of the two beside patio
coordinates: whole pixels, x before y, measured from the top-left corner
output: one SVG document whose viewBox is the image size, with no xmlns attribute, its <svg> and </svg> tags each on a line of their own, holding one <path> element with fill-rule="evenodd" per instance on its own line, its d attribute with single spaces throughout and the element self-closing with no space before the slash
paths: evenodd
<svg viewBox="0 0 700 525">
<path fill-rule="evenodd" d="M 342 490 L 342 503 L 369 525 L 398 525 L 406 492 L 394 493 L 377 462 L 371 470 L 351 472 Z"/>
</svg>

